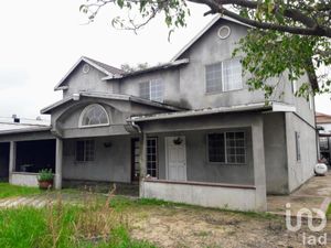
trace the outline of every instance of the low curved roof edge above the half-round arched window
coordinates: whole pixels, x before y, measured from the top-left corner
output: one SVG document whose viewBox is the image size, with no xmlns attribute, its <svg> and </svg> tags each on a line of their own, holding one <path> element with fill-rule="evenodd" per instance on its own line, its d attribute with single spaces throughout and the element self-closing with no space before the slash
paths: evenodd
<svg viewBox="0 0 331 248">
<path fill-rule="evenodd" d="M 167 104 L 162 104 L 162 103 L 158 103 L 158 101 L 152 101 L 152 100 L 143 99 L 143 98 L 136 97 L 136 96 L 122 95 L 122 94 L 82 91 L 82 93 L 79 93 L 79 96 L 90 97 L 90 98 L 109 99 L 109 100 L 126 100 L 126 101 L 132 101 L 132 103 L 137 103 L 137 104 L 141 104 L 141 105 L 148 105 L 148 106 L 153 106 L 153 107 L 158 107 L 158 108 L 163 108 L 163 109 L 172 110 L 172 111 L 183 110 L 182 108 L 179 108 L 175 106 L 171 106 L 171 105 L 167 105 Z M 66 103 L 70 103 L 70 101 L 74 101 L 74 96 L 64 98 L 62 100 L 58 100 L 58 101 L 50 105 L 49 107 L 43 108 L 41 110 L 41 114 L 51 114 L 51 111 L 54 110 L 55 108 L 57 108 Z"/>
</svg>

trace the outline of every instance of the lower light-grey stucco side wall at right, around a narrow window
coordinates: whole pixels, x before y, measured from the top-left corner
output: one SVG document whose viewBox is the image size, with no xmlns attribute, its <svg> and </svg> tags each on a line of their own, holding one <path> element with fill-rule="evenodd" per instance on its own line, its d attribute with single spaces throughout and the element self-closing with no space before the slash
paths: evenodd
<svg viewBox="0 0 331 248">
<path fill-rule="evenodd" d="M 297 161 L 296 134 L 300 133 L 301 160 Z M 313 127 L 302 121 L 295 114 L 286 114 L 286 142 L 288 154 L 289 191 L 293 191 L 313 175 L 317 163 L 317 141 Z"/>
</svg>

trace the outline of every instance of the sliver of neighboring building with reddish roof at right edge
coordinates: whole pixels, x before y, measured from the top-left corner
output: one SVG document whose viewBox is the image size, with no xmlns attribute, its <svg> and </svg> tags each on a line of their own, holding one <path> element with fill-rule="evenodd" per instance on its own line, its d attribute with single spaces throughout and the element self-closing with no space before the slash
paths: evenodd
<svg viewBox="0 0 331 248">
<path fill-rule="evenodd" d="M 331 116 L 316 112 L 316 123 L 319 130 L 320 158 L 331 162 Z"/>
</svg>

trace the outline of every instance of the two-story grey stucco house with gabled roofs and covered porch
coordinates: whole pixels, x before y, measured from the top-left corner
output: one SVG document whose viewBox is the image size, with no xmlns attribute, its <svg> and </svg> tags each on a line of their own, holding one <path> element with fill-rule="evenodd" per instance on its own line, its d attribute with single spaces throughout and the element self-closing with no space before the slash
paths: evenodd
<svg viewBox="0 0 331 248">
<path fill-rule="evenodd" d="M 35 185 L 45 166 L 58 188 L 140 176 L 141 197 L 266 209 L 267 194 L 313 175 L 314 106 L 293 95 L 307 77 L 282 77 L 267 106 L 263 91 L 248 90 L 232 58 L 248 29 L 216 18 L 170 63 L 134 73 L 82 57 L 55 87 L 63 99 L 41 111 L 50 130 L 0 132 L 9 181 Z"/>
</svg>

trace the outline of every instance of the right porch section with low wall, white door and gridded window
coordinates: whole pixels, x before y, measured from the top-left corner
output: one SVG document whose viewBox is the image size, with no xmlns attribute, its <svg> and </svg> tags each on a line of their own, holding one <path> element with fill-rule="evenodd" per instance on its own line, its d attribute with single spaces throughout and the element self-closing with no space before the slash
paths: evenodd
<svg viewBox="0 0 331 248">
<path fill-rule="evenodd" d="M 143 131 L 140 197 L 266 209 L 263 115 L 242 112 L 137 123 Z"/>
</svg>

